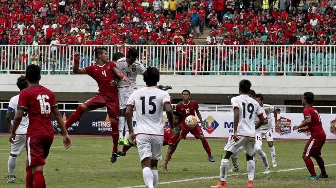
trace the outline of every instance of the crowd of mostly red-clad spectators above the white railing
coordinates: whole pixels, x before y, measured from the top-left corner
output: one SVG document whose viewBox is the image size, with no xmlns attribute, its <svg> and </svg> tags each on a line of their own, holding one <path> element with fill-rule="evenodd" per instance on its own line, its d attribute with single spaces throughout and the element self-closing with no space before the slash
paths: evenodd
<svg viewBox="0 0 336 188">
<path fill-rule="evenodd" d="M 336 1 L 0 0 L 0 45 L 334 45 Z M 334 37 L 335 35 L 335 37 Z"/>
</svg>

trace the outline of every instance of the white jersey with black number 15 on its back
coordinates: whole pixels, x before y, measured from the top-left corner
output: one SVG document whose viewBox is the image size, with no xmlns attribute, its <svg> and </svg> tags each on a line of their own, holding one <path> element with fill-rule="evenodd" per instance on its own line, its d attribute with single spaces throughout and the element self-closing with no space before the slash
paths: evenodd
<svg viewBox="0 0 336 188">
<path fill-rule="evenodd" d="M 165 103 L 170 103 L 167 91 L 146 86 L 135 90 L 127 105 L 136 108 L 136 129 L 134 133 L 163 136 L 162 111 Z"/>
</svg>

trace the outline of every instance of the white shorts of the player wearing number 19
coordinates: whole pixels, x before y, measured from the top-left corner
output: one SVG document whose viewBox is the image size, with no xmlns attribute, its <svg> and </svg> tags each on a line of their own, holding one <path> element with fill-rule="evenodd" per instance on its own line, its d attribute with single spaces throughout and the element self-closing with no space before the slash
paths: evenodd
<svg viewBox="0 0 336 188">
<path fill-rule="evenodd" d="M 243 146 L 245 153 L 253 156 L 255 152 L 255 138 L 238 136 L 239 141 L 235 142 L 232 136 L 227 140 L 224 151 L 235 153 L 240 146 Z"/>
</svg>

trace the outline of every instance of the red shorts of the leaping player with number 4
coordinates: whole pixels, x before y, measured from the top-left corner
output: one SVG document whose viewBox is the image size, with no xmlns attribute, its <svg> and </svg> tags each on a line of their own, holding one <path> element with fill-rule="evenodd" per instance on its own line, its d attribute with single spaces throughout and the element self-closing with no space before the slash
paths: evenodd
<svg viewBox="0 0 336 188">
<path fill-rule="evenodd" d="M 84 104 L 91 110 L 106 106 L 109 117 L 118 121 L 119 99 L 117 94 L 109 93 L 109 95 L 105 95 L 104 93 L 99 92 L 97 95 L 87 100 Z"/>
</svg>

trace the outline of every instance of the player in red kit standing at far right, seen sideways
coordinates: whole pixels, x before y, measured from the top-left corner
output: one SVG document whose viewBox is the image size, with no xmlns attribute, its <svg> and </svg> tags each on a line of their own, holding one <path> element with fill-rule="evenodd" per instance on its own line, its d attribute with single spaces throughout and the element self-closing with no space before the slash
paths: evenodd
<svg viewBox="0 0 336 188">
<path fill-rule="evenodd" d="M 314 94 L 312 92 L 305 92 L 302 99 L 302 104 L 305 107 L 305 109 L 303 110 L 305 120 L 300 125 L 296 125 L 293 127 L 293 130 L 297 129 L 298 133 L 310 131 L 311 134 L 302 155 L 308 171 L 311 174 L 311 176 L 306 178 L 308 180 L 328 177 L 324 166 L 324 161 L 321 157 L 321 149 L 326 141 L 326 134 L 322 127 L 319 112 L 317 112 L 316 108 L 312 106 L 313 101 Z M 310 157 L 313 157 L 316 160 L 317 164 L 319 164 L 321 174 L 316 175 L 314 164 Z"/>
</svg>

